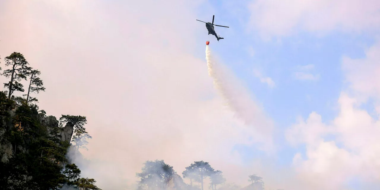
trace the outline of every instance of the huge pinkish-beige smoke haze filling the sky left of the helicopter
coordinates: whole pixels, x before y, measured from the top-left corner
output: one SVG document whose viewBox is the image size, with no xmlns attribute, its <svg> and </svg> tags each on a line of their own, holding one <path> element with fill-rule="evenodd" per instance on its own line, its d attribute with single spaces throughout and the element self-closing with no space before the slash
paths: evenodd
<svg viewBox="0 0 380 190">
<path fill-rule="evenodd" d="M 199 1 L 161 3 L 2 1 L 0 53 L 22 52 L 41 70 L 48 115 L 87 117 L 88 150 L 69 155 L 100 188 L 134 187 L 147 160 L 165 160 L 181 176 L 204 160 L 228 183 L 248 185 L 253 173 L 269 180 L 265 161 L 243 163 L 236 145 L 271 149 L 270 130 L 258 133 L 270 119 L 247 120 L 263 113 L 223 72 L 237 112 L 226 109 L 204 54 L 193 56 L 204 44 L 190 8 Z"/>
</svg>

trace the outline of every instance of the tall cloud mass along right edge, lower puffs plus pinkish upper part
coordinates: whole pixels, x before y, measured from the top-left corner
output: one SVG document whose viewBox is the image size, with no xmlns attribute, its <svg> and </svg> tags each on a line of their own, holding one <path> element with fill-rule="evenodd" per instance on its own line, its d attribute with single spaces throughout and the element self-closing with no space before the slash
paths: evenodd
<svg viewBox="0 0 380 190">
<path fill-rule="evenodd" d="M 375 108 L 379 106 L 379 47 L 380 43 L 370 47 L 364 59 L 343 59 L 350 86 L 339 97 L 340 112 L 335 119 L 324 123 L 312 112 L 305 122 L 299 119 L 287 130 L 289 142 L 306 146 L 304 158 L 294 156 L 294 166 L 307 187 L 336 190 L 344 189 L 353 177 L 366 183 L 380 180 L 380 120 L 359 108 L 369 97 L 377 100 Z M 327 135 L 335 139 L 326 139 Z"/>
</svg>

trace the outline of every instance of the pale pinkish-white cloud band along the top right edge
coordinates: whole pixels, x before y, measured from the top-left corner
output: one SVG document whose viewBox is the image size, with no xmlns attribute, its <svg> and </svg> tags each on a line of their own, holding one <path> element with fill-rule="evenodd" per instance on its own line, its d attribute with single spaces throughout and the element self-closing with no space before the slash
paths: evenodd
<svg viewBox="0 0 380 190">
<path fill-rule="evenodd" d="M 257 0 L 250 3 L 249 9 L 249 27 L 266 37 L 298 31 L 359 33 L 380 27 L 378 0 Z"/>
</svg>

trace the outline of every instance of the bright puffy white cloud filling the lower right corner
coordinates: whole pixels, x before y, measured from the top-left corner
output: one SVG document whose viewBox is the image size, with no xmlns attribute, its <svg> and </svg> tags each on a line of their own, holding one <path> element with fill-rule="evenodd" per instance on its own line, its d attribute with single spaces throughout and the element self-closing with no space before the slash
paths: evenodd
<svg viewBox="0 0 380 190">
<path fill-rule="evenodd" d="M 298 154 L 294 165 L 301 179 L 319 180 L 316 189 L 340 189 L 352 177 L 376 182 L 380 175 L 380 122 L 355 108 L 344 93 L 339 102 L 340 114 L 331 124 L 312 113 L 306 122 L 299 121 L 287 131 L 290 142 L 306 145 L 306 157 Z M 325 135 L 336 139 L 326 140 Z"/>
</svg>

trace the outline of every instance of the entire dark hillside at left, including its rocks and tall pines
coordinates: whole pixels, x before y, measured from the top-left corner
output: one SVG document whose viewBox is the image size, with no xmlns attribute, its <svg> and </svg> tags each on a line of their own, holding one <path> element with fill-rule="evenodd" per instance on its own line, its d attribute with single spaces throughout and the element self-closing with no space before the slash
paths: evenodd
<svg viewBox="0 0 380 190">
<path fill-rule="evenodd" d="M 45 90 L 40 71 L 28 65 L 24 55 L 13 52 L 5 57 L 8 69 L 0 73 L 9 79 L 0 91 L 0 189 L 99 190 L 94 179 L 80 177 L 80 169 L 66 156 L 70 146 L 79 149 L 91 138 L 84 127 L 86 117 L 46 116 L 31 97 Z M 21 81 L 28 84 L 27 89 Z"/>
</svg>

